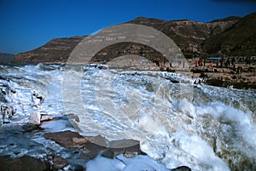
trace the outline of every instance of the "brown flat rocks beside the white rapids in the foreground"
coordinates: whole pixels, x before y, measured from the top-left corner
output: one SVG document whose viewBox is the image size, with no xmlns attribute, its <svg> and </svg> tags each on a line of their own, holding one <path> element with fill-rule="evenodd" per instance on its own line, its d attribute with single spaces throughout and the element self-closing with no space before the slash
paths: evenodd
<svg viewBox="0 0 256 171">
<path fill-rule="evenodd" d="M 89 159 L 95 158 L 101 151 L 103 151 L 102 156 L 108 158 L 113 158 L 125 152 L 143 153 L 140 150 L 140 142 L 138 140 L 113 140 L 109 142 L 108 146 L 108 140 L 104 139 L 101 135 L 84 137 L 77 132 L 69 130 L 44 134 L 44 137 L 49 140 L 54 140 L 67 149 L 84 149 L 83 157 Z"/>
</svg>

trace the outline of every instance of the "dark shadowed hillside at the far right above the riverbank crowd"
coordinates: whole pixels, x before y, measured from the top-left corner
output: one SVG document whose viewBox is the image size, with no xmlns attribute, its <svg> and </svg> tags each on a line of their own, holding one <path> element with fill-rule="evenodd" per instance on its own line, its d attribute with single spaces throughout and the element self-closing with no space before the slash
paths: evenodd
<svg viewBox="0 0 256 171">
<path fill-rule="evenodd" d="M 256 13 L 248 14 L 227 30 L 208 38 L 202 46 L 213 55 L 256 55 Z"/>
</svg>

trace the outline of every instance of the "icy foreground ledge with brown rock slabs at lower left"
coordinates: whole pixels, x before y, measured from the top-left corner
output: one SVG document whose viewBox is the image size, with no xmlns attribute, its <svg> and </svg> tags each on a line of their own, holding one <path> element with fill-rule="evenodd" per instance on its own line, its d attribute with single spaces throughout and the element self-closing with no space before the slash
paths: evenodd
<svg viewBox="0 0 256 171">
<path fill-rule="evenodd" d="M 56 122 L 64 122 L 67 130 L 51 132 L 49 128 L 44 127 L 44 124 L 56 124 Z M 118 161 L 122 164 L 120 170 L 134 170 L 128 168 L 133 168 L 132 163 L 138 158 L 140 168 L 155 170 L 147 162 L 143 162 L 142 158 L 148 156 L 141 151 L 139 141 L 108 141 L 102 135 L 82 136 L 72 128 L 67 116 L 55 117 L 41 124 L 3 125 L 0 128 L 0 144 L 1 170 L 90 170 L 91 168 L 87 168 L 88 163 L 95 162 L 98 158 Z M 127 160 L 129 162 L 125 162 Z M 94 170 L 99 164 L 101 162 L 93 165 Z M 191 169 L 180 166 L 165 170 Z"/>
</svg>

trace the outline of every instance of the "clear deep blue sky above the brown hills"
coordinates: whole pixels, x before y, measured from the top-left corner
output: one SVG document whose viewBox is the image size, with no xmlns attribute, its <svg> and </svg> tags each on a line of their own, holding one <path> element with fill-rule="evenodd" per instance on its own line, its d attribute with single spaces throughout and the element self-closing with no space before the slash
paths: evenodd
<svg viewBox="0 0 256 171">
<path fill-rule="evenodd" d="M 25 52 L 138 16 L 207 22 L 253 12 L 256 0 L 0 0 L 0 52 Z"/>
</svg>

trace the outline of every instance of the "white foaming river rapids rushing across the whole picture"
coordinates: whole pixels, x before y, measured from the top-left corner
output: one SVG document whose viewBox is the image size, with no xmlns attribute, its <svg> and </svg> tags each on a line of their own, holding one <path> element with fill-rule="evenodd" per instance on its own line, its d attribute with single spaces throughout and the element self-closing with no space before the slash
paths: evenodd
<svg viewBox="0 0 256 171">
<path fill-rule="evenodd" d="M 186 74 L 96 66 L 0 66 L 0 73 L 0 86 L 8 84 L 16 91 L 9 95 L 11 100 L 1 99 L 2 105 L 16 108 L 7 124 L 29 121 L 35 91 L 44 96 L 43 108 L 38 110 L 50 115 L 72 111 L 79 117 L 73 126 L 81 134 L 140 140 L 142 150 L 166 168 L 256 170 L 253 89 L 195 85 Z M 76 108 L 76 98 L 68 96 L 74 90 L 63 87 L 63 83 L 74 84 L 73 77 L 79 77 L 82 108 Z M 73 104 L 72 110 L 67 103 Z"/>
</svg>

